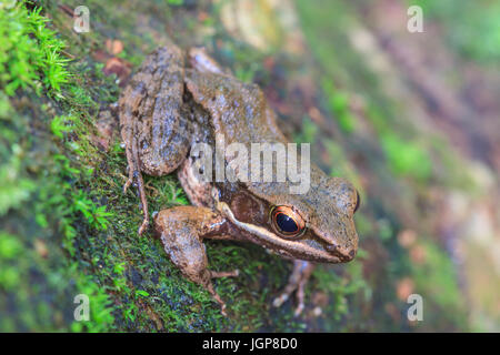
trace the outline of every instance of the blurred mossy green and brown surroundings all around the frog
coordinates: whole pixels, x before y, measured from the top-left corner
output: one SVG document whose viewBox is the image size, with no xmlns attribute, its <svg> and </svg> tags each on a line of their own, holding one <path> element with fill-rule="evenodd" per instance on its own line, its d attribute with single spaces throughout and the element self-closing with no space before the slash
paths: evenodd
<svg viewBox="0 0 500 355">
<path fill-rule="evenodd" d="M 500 331 L 500 2 L 92 0 L 83 33 L 78 6 L 0 10 L 0 331 Z M 291 265 L 259 246 L 206 243 L 211 267 L 242 271 L 217 281 L 223 318 L 136 235 L 108 108 L 172 41 L 258 83 L 286 134 L 360 191 L 358 257 L 314 271 L 299 318 L 270 307 Z M 188 203 L 174 175 L 147 186 L 152 210 Z"/>
</svg>

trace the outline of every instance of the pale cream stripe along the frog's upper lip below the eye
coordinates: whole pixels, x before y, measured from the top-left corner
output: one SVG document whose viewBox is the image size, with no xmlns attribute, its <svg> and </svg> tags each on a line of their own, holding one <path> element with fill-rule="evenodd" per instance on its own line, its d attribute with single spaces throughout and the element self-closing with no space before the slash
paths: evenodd
<svg viewBox="0 0 500 355">
<path fill-rule="evenodd" d="M 231 223 L 250 234 L 250 240 L 252 242 L 272 246 L 273 251 L 280 255 L 333 264 L 350 260 L 346 260 L 346 255 L 339 253 L 333 245 L 331 248 L 320 248 L 300 241 L 283 240 L 262 226 L 237 220 L 231 209 L 226 203 L 220 203 L 219 207 L 226 217 L 231 221 Z"/>
</svg>

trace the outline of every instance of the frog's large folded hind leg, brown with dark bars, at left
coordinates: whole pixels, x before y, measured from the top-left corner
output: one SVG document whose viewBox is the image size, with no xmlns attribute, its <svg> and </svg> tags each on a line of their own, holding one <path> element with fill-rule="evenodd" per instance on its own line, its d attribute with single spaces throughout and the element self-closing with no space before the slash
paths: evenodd
<svg viewBox="0 0 500 355">
<path fill-rule="evenodd" d="M 123 192 L 137 184 L 143 212 L 139 234 L 149 225 L 142 172 L 169 174 L 189 151 L 192 128 L 182 115 L 183 67 L 179 48 L 161 47 L 144 60 L 120 98 L 121 135 L 129 169 Z"/>
</svg>

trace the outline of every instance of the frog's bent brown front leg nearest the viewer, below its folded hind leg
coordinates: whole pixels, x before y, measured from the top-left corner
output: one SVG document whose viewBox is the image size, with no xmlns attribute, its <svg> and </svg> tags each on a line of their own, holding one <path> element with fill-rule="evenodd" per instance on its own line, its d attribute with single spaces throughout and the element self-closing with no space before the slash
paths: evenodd
<svg viewBox="0 0 500 355">
<path fill-rule="evenodd" d="M 207 268 L 203 237 L 230 239 L 224 234 L 227 221 L 207 207 L 179 206 L 160 211 L 154 216 L 154 229 L 172 263 L 191 282 L 203 286 L 220 304 L 226 315 L 226 303 L 213 290 L 213 277 L 238 276 L 238 271 L 214 272 Z"/>
</svg>

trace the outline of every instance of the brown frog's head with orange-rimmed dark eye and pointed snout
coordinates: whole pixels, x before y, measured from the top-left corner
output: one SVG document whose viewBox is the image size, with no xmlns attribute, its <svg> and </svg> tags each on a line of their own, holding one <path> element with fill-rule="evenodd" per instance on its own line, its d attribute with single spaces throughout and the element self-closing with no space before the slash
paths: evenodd
<svg viewBox="0 0 500 355">
<path fill-rule="evenodd" d="M 243 216 L 258 210 L 254 207 L 238 214 L 250 222 L 239 226 L 250 232 L 254 243 L 284 256 L 322 263 L 343 263 L 356 256 L 353 215 L 360 200 L 347 180 L 327 176 L 316 168 L 310 189 L 303 194 L 290 194 L 283 183 L 259 183 L 250 190 L 264 202 L 260 206 L 262 216 Z M 243 203 L 238 204 L 241 207 Z M 239 222 L 239 217 L 234 220 Z"/>
</svg>

